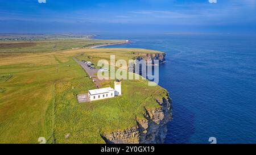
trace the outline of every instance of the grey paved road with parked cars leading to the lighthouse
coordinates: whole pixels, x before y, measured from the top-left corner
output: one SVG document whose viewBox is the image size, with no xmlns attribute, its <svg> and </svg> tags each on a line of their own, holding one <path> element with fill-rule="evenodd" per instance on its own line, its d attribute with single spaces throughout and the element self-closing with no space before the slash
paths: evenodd
<svg viewBox="0 0 256 155">
<path fill-rule="evenodd" d="M 94 80 L 94 83 L 96 85 L 97 88 L 100 88 L 100 80 L 97 78 L 97 76 L 95 75 L 99 69 L 90 69 L 87 64 L 85 64 L 84 62 L 81 62 L 79 60 L 76 59 L 76 56 L 73 57 L 73 60 L 75 60 L 77 63 L 79 63 L 82 68 L 85 70 L 85 72 L 92 78 L 92 80 Z"/>
</svg>

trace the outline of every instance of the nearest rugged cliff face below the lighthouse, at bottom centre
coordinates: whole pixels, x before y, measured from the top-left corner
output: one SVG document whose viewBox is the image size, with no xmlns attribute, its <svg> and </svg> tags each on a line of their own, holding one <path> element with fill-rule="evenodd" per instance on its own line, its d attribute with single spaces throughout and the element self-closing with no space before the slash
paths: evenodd
<svg viewBox="0 0 256 155">
<path fill-rule="evenodd" d="M 172 119 L 171 99 L 163 98 L 158 103 L 161 107 L 151 110 L 146 109 L 144 119 L 137 120 L 137 125 L 134 125 L 134 127 L 103 135 L 102 137 L 106 143 L 164 143 L 167 133 L 167 123 Z"/>
</svg>

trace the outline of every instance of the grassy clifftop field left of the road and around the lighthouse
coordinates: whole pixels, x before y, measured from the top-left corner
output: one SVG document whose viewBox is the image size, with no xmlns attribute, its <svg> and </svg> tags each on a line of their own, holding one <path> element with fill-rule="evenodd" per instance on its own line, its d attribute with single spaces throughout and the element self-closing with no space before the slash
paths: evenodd
<svg viewBox="0 0 256 155">
<path fill-rule="evenodd" d="M 21 48 L 24 53 L 1 53 L 0 143 L 38 143 L 39 137 L 47 143 L 105 143 L 102 133 L 133 126 L 136 118 L 143 119 L 144 108 L 159 106 L 155 99 L 166 97 L 167 91 L 149 87 L 145 80 L 124 80 L 121 97 L 79 104 L 76 95 L 95 85 L 72 57 L 109 57 L 118 51 L 117 57 L 126 58 L 137 50 L 148 52 L 102 48 L 27 53 Z"/>
</svg>

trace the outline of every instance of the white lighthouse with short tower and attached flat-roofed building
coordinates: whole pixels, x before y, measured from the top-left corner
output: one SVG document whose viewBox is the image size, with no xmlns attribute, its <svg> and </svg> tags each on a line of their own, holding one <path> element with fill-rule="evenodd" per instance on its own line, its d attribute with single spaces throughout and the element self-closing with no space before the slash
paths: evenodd
<svg viewBox="0 0 256 155">
<path fill-rule="evenodd" d="M 115 81 L 115 89 L 111 87 L 101 88 L 101 89 L 94 89 L 89 90 L 88 97 L 92 100 L 100 100 L 100 99 L 107 99 L 113 98 L 115 96 L 121 95 L 121 82 L 119 80 Z"/>
</svg>

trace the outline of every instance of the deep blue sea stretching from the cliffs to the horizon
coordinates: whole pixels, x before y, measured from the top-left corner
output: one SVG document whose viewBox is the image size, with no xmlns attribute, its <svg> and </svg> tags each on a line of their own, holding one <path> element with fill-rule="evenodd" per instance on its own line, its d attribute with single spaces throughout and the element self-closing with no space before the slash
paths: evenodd
<svg viewBox="0 0 256 155">
<path fill-rule="evenodd" d="M 256 37 L 102 34 L 110 47 L 166 52 L 159 85 L 173 100 L 165 143 L 256 143 Z"/>
</svg>

